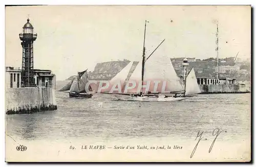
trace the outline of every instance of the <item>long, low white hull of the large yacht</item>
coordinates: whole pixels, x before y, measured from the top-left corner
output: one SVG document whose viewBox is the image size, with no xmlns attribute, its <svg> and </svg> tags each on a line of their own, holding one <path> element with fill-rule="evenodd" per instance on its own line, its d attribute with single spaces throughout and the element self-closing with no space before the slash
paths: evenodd
<svg viewBox="0 0 256 167">
<path fill-rule="evenodd" d="M 115 95 L 118 100 L 124 101 L 181 101 L 189 97 L 152 97 L 152 96 L 119 96 Z"/>
</svg>

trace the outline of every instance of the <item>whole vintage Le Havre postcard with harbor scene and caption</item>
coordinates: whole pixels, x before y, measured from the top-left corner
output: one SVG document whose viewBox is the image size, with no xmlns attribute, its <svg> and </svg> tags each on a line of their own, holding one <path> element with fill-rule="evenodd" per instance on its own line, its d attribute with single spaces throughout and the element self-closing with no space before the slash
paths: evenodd
<svg viewBox="0 0 256 167">
<path fill-rule="evenodd" d="M 251 6 L 6 6 L 7 162 L 249 162 Z"/>
</svg>

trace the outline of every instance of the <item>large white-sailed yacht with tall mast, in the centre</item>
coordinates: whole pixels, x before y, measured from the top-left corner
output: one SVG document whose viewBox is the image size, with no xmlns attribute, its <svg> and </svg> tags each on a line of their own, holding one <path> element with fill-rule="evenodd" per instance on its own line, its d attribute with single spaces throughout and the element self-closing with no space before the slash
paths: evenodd
<svg viewBox="0 0 256 167">
<path fill-rule="evenodd" d="M 145 57 L 146 23 L 147 21 L 145 21 L 142 60 L 137 65 L 130 62 L 111 79 L 112 88 L 121 86 L 121 91 L 112 89 L 108 93 L 124 101 L 181 101 L 200 93 L 194 68 L 188 72 L 185 81 L 182 82 L 169 58 L 160 55 L 151 57 L 164 40 L 147 58 Z M 156 87 L 157 81 L 160 82 L 160 86 Z M 136 86 L 131 87 L 131 83 L 133 86 L 136 83 Z"/>
</svg>

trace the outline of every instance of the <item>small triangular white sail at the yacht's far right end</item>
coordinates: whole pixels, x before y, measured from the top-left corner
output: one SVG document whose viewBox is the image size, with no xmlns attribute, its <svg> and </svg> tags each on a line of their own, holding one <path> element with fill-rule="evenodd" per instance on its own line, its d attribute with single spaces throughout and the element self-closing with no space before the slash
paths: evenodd
<svg viewBox="0 0 256 167">
<path fill-rule="evenodd" d="M 186 90 L 185 95 L 193 95 L 201 93 L 197 83 L 194 67 L 189 71 L 186 77 Z"/>
</svg>

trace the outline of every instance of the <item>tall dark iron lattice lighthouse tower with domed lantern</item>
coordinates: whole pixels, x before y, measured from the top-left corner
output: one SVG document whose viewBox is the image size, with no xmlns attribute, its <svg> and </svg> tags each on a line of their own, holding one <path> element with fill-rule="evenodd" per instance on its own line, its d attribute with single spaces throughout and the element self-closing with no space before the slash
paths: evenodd
<svg viewBox="0 0 256 167">
<path fill-rule="evenodd" d="M 34 81 L 34 60 L 33 60 L 33 42 L 36 40 L 37 34 L 33 34 L 34 27 L 27 19 L 27 23 L 23 26 L 23 33 L 19 34 L 22 41 L 22 87 L 33 87 Z"/>
</svg>

